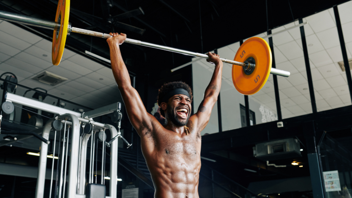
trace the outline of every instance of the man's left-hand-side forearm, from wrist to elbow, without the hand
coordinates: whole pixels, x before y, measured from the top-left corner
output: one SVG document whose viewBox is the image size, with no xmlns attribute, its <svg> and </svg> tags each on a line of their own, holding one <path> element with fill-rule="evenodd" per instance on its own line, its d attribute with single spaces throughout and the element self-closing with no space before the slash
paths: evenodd
<svg viewBox="0 0 352 198">
<path fill-rule="evenodd" d="M 120 46 L 117 43 L 109 43 L 111 68 L 114 78 L 119 88 L 131 85 L 130 74 L 128 74 L 126 65 L 121 56 Z"/>
</svg>

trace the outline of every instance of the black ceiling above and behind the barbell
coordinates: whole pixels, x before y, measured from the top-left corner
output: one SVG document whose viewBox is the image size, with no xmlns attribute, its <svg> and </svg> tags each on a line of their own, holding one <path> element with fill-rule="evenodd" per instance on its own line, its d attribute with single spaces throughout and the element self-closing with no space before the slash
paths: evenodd
<svg viewBox="0 0 352 198">
<path fill-rule="evenodd" d="M 114 27 L 114 30 L 119 33 L 127 33 L 129 38 L 204 53 L 345 1 L 71 0 L 70 22 L 74 27 L 89 28 L 94 26 L 92 30 L 108 33 L 113 31 L 113 27 L 104 25 L 107 20 L 107 10 L 103 10 L 103 7 L 106 9 L 109 3 L 112 5 L 109 8 L 111 16 L 142 7 L 144 15 L 122 19 L 119 22 L 145 29 L 143 35 L 117 26 Z M 54 20 L 56 4 L 55 0 L 0 0 L 0 10 Z M 268 23 L 266 7 L 268 8 Z M 102 24 L 102 26 L 96 27 L 97 24 Z M 44 33 L 49 40 L 52 37 L 50 30 L 34 29 Z M 66 45 L 76 52 L 88 50 L 109 58 L 108 46 L 102 38 L 71 33 Z M 133 44 L 124 44 L 121 49 L 123 57 L 130 61 L 127 68 L 134 73 L 155 73 L 169 70 L 190 61 L 191 58 L 186 55 L 172 54 Z"/>
</svg>

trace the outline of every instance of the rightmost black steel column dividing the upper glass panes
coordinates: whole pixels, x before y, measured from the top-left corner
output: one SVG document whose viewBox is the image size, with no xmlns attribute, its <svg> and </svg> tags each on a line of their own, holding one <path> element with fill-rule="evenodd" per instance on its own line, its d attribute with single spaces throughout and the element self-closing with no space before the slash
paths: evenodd
<svg viewBox="0 0 352 198">
<path fill-rule="evenodd" d="M 342 58 L 344 59 L 344 64 L 345 64 L 345 71 L 346 71 L 348 89 L 350 89 L 350 97 L 352 99 L 351 70 L 350 70 L 350 64 L 348 64 L 345 39 L 344 39 L 344 34 L 342 33 L 342 27 L 341 27 L 341 21 L 340 21 L 340 16 L 339 16 L 339 10 L 337 9 L 337 6 L 334 6 L 334 13 L 335 13 L 335 19 L 336 19 L 337 32 L 339 33 L 339 38 L 340 38 Z"/>
</svg>

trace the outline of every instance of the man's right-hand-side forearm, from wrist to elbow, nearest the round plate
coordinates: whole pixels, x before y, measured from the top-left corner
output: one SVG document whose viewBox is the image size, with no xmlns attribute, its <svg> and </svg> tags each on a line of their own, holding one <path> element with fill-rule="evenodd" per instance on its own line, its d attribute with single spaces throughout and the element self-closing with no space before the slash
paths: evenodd
<svg viewBox="0 0 352 198">
<path fill-rule="evenodd" d="M 216 64 L 212 79 L 205 90 L 204 98 L 214 97 L 218 98 L 220 87 L 221 87 L 221 77 L 222 77 L 222 62 Z"/>
</svg>

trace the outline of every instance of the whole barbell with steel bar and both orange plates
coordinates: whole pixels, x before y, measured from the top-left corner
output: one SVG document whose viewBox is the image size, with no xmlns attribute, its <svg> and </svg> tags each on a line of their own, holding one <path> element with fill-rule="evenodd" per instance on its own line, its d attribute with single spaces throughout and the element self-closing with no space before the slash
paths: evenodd
<svg viewBox="0 0 352 198">
<path fill-rule="evenodd" d="M 81 33 L 84 35 L 110 38 L 107 33 L 84 30 L 77 27 L 72 27 L 69 23 L 70 0 L 59 0 L 56 10 L 55 21 L 32 18 L 29 16 L 15 14 L 11 12 L 0 11 L 0 19 L 41 27 L 54 30 L 52 39 L 52 64 L 58 65 L 61 61 L 62 54 L 65 48 L 67 35 L 71 32 Z M 176 52 L 180 54 L 209 58 L 206 54 L 171 48 L 163 45 L 143 42 L 126 38 L 125 43 L 142 45 L 161 49 L 165 51 Z M 269 74 L 280 75 L 284 77 L 290 76 L 290 72 L 272 68 L 272 55 L 268 43 L 259 37 L 247 39 L 238 49 L 234 60 L 220 58 L 222 62 L 232 64 L 232 81 L 241 94 L 251 95 L 260 90 L 269 78 Z M 241 66 L 241 67 L 237 67 Z"/>
</svg>

